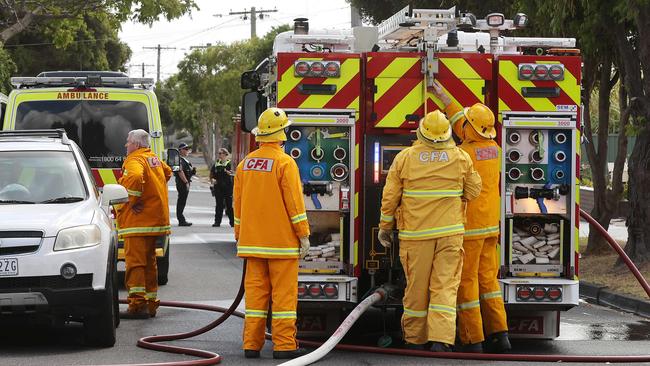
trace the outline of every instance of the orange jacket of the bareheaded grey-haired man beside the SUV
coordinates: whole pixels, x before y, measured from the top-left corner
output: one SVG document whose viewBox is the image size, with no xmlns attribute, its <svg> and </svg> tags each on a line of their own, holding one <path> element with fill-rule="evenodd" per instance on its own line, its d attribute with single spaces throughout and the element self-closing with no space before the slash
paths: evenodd
<svg viewBox="0 0 650 366">
<path fill-rule="evenodd" d="M 149 148 L 140 148 L 126 157 L 118 181 L 129 194 L 129 202 L 117 211 L 121 238 L 170 233 L 167 181 L 171 176 L 171 168 Z M 131 208 L 137 202 L 142 203 L 140 213 Z"/>
</svg>

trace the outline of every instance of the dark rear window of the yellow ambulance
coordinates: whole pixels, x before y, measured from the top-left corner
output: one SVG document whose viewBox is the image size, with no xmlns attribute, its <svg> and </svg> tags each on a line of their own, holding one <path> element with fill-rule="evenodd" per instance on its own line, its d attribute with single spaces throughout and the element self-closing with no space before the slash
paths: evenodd
<svg viewBox="0 0 650 366">
<path fill-rule="evenodd" d="M 25 101 L 16 111 L 16 130 L 64 128 L 92 168 L 119 169 L 131 130 L 149 131 L 144 103 L 112 100 Z"/>
</svg>

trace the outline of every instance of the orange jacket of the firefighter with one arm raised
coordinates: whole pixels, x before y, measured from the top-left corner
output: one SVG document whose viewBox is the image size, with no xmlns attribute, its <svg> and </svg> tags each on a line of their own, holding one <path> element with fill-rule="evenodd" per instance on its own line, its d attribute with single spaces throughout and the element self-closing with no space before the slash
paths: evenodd
<svg viewBox="0 0 650 366">
<path fill-rule="evenodd" d="M 474 169 L 483 182 L 481 194 L 467 204 L 465 238 L 474 240 L 498 236 L 501 210 L 499 145 L 494 140 L 479 135 L 469 123 L 465 124 L 463 110 L 457 103 L 452 102 L 447 106 L 445 113 L 449 116 L 454 133 L 462 140 L 459 147 L 469 154 Z M 463 128 L 463 125 L 466 126 Z"/>
</svg>

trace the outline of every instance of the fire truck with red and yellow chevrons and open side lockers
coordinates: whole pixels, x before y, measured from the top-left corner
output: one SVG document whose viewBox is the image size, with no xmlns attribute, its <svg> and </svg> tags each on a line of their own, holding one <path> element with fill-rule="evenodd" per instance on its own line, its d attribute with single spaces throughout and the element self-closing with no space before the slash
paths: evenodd
<svg viewBox="0 0 650 366">
<path fill-rule="evenodd" d="M 293 125 L 295 159 L 312 235 L 300 262 L 299 329 L 331 332 L 341 309 L 374 288 L 403 289 L 398 245 L 377 240 L 383 185 L 420 119 L 444 108 L 437 80 L 462 106 L 484 103 L 501 147 L 499 280 L 512 337 L 559 335 L 578 305 L 581 58 L 571 38 L 506 37 L 528 18 L 479 19 L 451 9 L 397 12 L 377 27 L 279 34 L 273 54 L 242 75 L 234 157 L 267 106 Z M 399 291 L 384 306 L 401 308 Z"/>
</svg>

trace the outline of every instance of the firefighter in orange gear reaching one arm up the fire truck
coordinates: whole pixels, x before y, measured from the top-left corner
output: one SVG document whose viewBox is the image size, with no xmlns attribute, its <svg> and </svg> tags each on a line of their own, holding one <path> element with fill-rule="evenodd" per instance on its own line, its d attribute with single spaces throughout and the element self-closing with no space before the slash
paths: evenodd
<svg viewBox="0 0 650 366">
<path fill-rule="evenodd" d="M 458 330 L 465 352 L 503 353 L 510 350 L 508 324 L 497 280 L 499 237 L 499 146 L 494 114 L 476 103 L 461 108 L 452 103 L 440 84 L 433 93 L 451 116 L 453 131 L 462 141 L 460 148 L 472 158 L 483 181 L 479 197 L 467 205 L 463 249 L 465 261 L 458 289 Z M 487 337 L 484 337 L 484 332 Z"/>
</svg>

